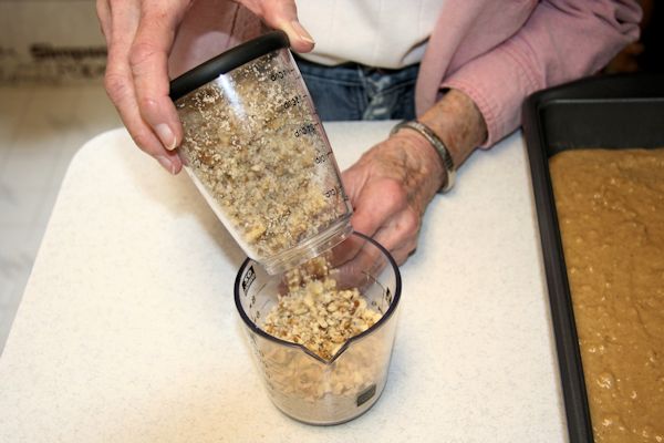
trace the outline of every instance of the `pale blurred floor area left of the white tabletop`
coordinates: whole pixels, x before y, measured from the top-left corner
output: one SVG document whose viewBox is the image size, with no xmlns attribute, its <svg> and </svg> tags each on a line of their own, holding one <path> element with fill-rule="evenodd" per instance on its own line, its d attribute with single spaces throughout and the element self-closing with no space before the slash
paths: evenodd
<svg viewBox="0 0 664 443">
<path fill-rule="evenodd" d="M 120 123 L 101 83 L 0 86 L 0 353 L 70 161 Z"/>
</svg>

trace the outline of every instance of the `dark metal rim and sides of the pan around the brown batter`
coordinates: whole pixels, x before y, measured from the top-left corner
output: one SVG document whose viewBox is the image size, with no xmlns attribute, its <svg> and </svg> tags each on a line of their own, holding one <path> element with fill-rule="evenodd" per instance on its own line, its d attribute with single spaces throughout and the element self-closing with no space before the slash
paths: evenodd
<svg viewBox="0 0 664 443">
<path fill-rule="evenodd" d="M 596 76 L 529 96 L 522 109 L 571 443 L 593 442 L 549 157 L 580 147 L 664 146 L 664 75 Z"/>
</svg>

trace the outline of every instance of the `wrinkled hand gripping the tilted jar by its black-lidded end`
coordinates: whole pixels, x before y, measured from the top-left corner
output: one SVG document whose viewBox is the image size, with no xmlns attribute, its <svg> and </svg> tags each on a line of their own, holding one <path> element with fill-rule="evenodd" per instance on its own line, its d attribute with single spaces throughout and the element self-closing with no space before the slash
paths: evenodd
<svg viewBox="0 0 664 443">
<path fill-rule="evenodd" d="M 199 0 L 205 1 L 205 0 Z M 132 138 L 172 174 L 183 128 L 168 96 L 168 54 L 194 0 L 97 0 L 108 47 L 105 87 Z M 284 31 L 293 50 L 313 48 L 298 22 L 294 0 L 237 0 L 269 27 Z"/>
</svg>

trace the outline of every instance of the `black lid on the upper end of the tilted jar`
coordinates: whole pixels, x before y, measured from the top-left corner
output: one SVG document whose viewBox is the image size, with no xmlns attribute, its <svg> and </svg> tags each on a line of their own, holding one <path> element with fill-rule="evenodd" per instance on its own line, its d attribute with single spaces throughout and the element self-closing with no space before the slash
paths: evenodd
<svg viewBox="0 0 664 443">
<path fill-rule="evenodd" d="M 271 31 L 229 49 L 173 80 L 170 82 L 170 100 L 175 102 L 189 92 L 211 82 L 221 74 L 232 71 L 261 55 L 278 49 L 288 48 L 289 45 L 288 37 L 284 32 Z"/>
</svg>

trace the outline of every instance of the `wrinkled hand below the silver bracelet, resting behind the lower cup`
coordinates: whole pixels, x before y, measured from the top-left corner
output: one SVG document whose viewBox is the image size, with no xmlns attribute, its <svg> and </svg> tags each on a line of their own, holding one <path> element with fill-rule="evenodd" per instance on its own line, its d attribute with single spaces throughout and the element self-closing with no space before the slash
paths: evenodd
<svg viewBox="0 0 664 443">
<path fill-rule="evenodd" d="M 415 250 L 424 212 L 445 179 L 429 143 L 414 131 L 397 132 L 343 173 L 353 228 L 403 264 Z"/>
</svg>

